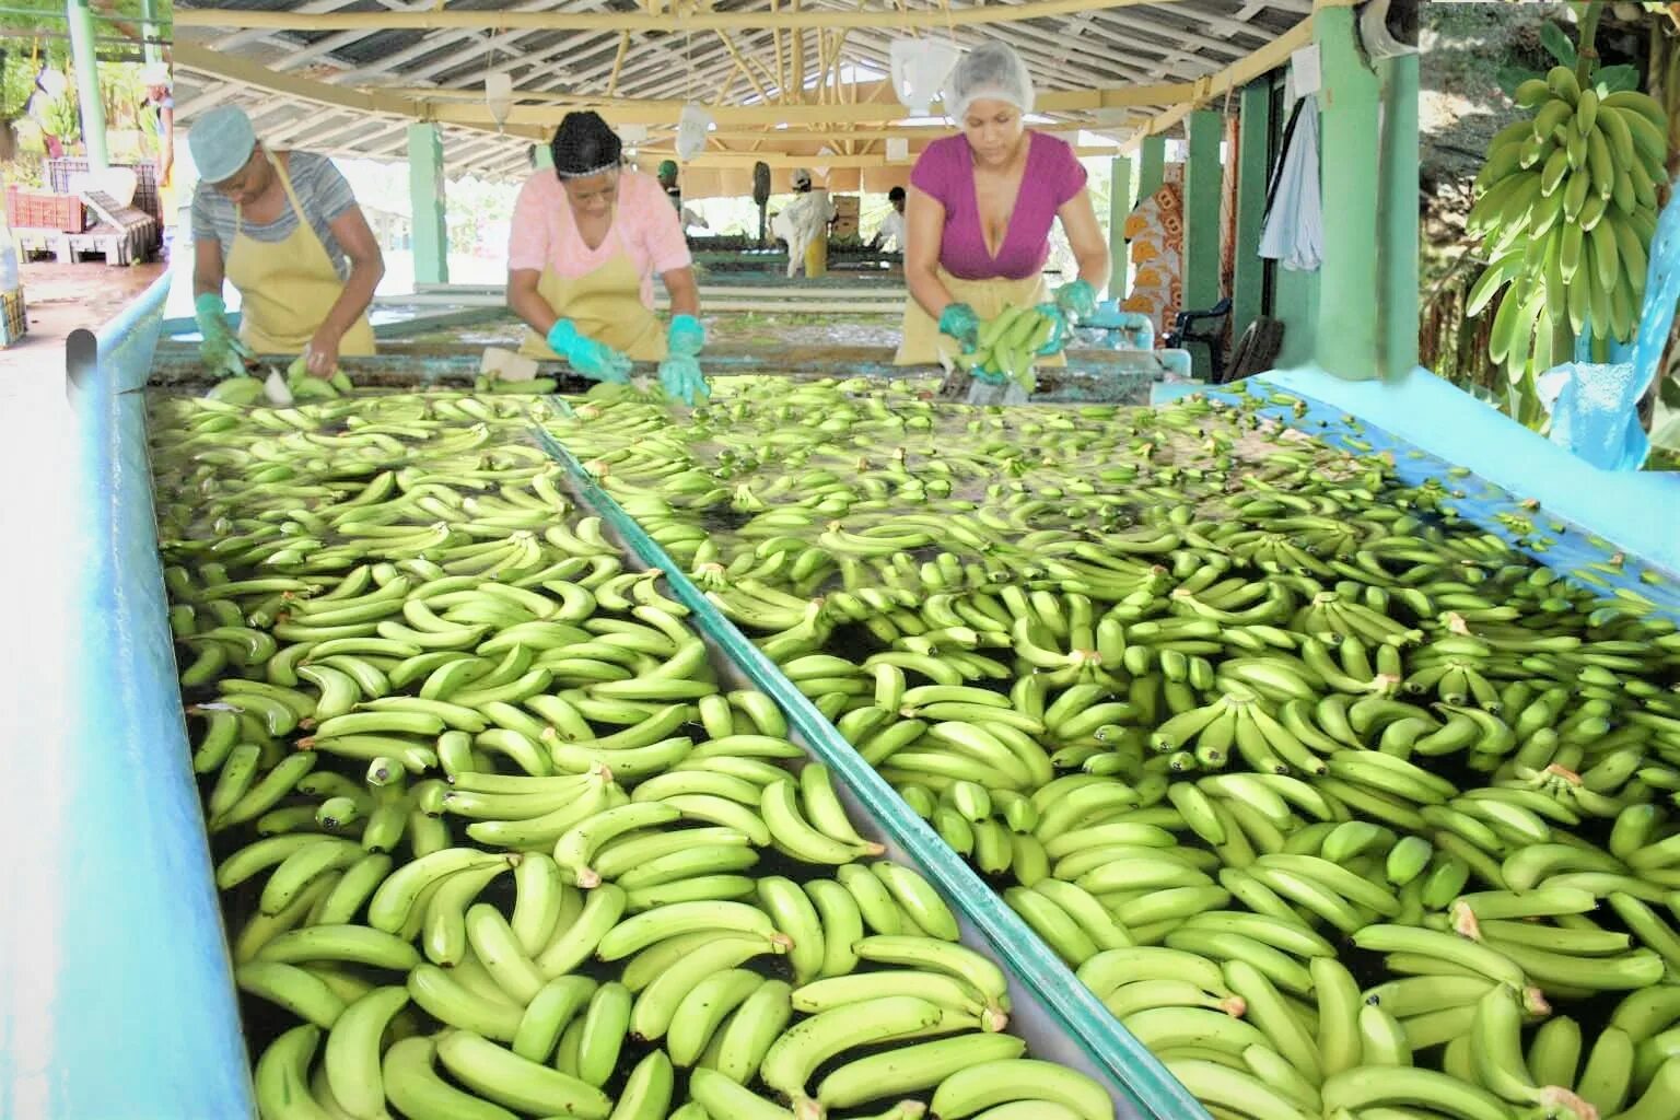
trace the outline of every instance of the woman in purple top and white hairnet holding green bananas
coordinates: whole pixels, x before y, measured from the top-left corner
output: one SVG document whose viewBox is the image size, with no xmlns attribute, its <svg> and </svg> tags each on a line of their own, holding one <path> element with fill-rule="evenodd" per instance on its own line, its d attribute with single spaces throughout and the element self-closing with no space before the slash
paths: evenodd
<svg viewBox="0 0 1680 1120">
<path fill-rule="evenodd" d="M 976 348 L 979 324 L 1003 307 L 1038 304 L 1058 329 L 1092 314 L 1109 274 L 1109 247 L 1085 190 L 1085 168 L 1062 139 L 1026 128 L 1032 76 L 1013 49 L 991 42 L 958 62 L 944 92 L 963 133 L 936 139 L 917 156 L 906 205 L 904 275 L 911 301 L 897 364 L 944 363 Z M 1079 279 L 1045 301 L 1043 265 L 1050 222 L 1060 218 L 1079 262 Z M 942 339 L 946 336 L 949 341 Z M 1053 361 L 1063 361 L 1060 354 Z M 974 369 L 969 400 L 988 396 L 1001 373 Z M 1025 400 L 1020 390 L 1015 400 Z M 995 395 L 995 388 L 993 393 Z"/>
</svg>

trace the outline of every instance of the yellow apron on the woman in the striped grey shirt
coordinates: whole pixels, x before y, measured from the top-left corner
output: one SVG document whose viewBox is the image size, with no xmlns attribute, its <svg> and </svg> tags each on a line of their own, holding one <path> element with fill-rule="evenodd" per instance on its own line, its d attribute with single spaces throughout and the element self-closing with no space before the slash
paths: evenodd
<svg viewBox="0 0 1680 1120">
<path fill-rule="evenodd" d="M 265 153 L 267 154 L 267 153 Z M 259 242 L 235 225 L 227 250 L 227 279 L 239 289 L 239 336 L 257 354 L 302 354 L 344 290 L 326 245 L 316 237 L 297 203 L 292 180 L 272 154 L 276 175 L 297 215 L 297 228 L 277 242 Z M 239 207 L 235 223 L 242 223 Z M 338 341 L 338 353 L 365 358 L 373 353 L 373 324 L 363 314 Z"/>
</svg>

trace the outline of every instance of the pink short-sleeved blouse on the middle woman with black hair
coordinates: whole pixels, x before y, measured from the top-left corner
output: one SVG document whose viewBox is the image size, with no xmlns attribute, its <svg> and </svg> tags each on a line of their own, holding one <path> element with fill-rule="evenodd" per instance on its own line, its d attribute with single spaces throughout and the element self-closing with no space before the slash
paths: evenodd
<svg viewBox="0 0 1680 1120">
<path fill-rule="evenodd" d="M 615 254 L 627 252 L 642 274 L 642 302 L 654 306 L 654 274 L 685 269 L 694 259 L 682 237 L 677 208 L 652 175 L 625 168 L 618 173 L 618 203 L 613 225 L 600 249 L 590 249 L 578 233 L 566 201 L 566 188 L 551 168 L 539 168 L 519 188 L 514 203 L 509 269 L 553 269 L 566 279 L 595 272 Z"/>
</svg>

